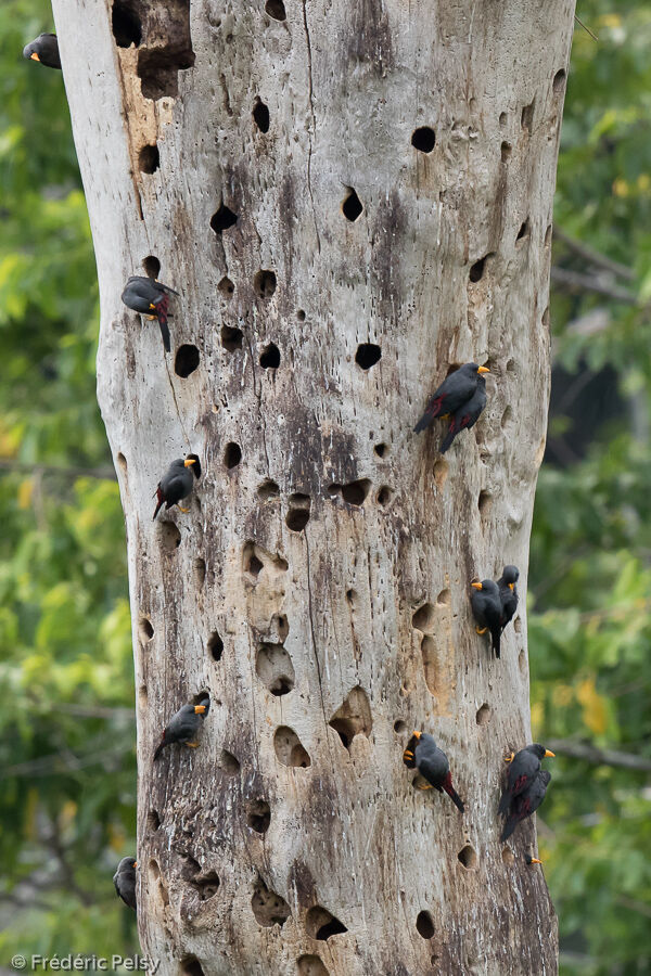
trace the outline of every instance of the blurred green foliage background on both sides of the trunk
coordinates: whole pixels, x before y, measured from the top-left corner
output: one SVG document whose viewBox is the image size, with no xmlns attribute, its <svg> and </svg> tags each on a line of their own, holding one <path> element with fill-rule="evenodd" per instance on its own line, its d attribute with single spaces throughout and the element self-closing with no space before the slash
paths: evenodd
<svg viewBox="0 0 651 976">
<path fill-rule="evenodd" d="M 634 271 L 631 301 L 556 290 L 556 357 L 616 371 L 625 411 L 542 467 L 529 576 L 536 737 L 651 758 L 651 5 L 587 0 L 556 226 Z M 94 396 L 98 293 L 62 78 L 24 43 L 47 0 L 0 5 L 0 964 L 133 951 L 114 896 L 135 849 L 123 517 Z M 554 260 L 585 261 L 554 244 Z M 603 278 L 602 278 L 603 280 Z M 605 313 L 598 331 L 575 328 Z M 553 432 L 562 436 L 562 418 Z M 539 817 L 565 974 L 651 972 L 648 773 L 559 755 Z"/>
</svg>

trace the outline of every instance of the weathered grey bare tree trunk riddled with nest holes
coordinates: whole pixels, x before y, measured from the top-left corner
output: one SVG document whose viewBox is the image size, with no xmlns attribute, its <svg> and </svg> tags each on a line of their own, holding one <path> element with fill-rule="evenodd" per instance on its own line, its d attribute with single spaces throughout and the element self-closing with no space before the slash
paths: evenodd
<svg viewBox="0 0 651 976">
<path fill-rule="evenodd" d="M 574 4 L 53 5 L 128 531 L 143 949 L 191 976 L 554 973 L 534 824 L 505 848 L 496 817 L 531 739 L 524 599 L 496 662 L 468 585 L 514 562 L 526 592 Z M 120 304 L 145 258 L 181 292 L 167 359 Z M 444 460 L 411 428 L 471 359 L 488 408 Z M 191 512 L 153 523 L 188 451 Z M 201 748 L 153 766 L 203 690 Z M 464 817 L 412 787 L 414 728 Z"/>
</svg>

